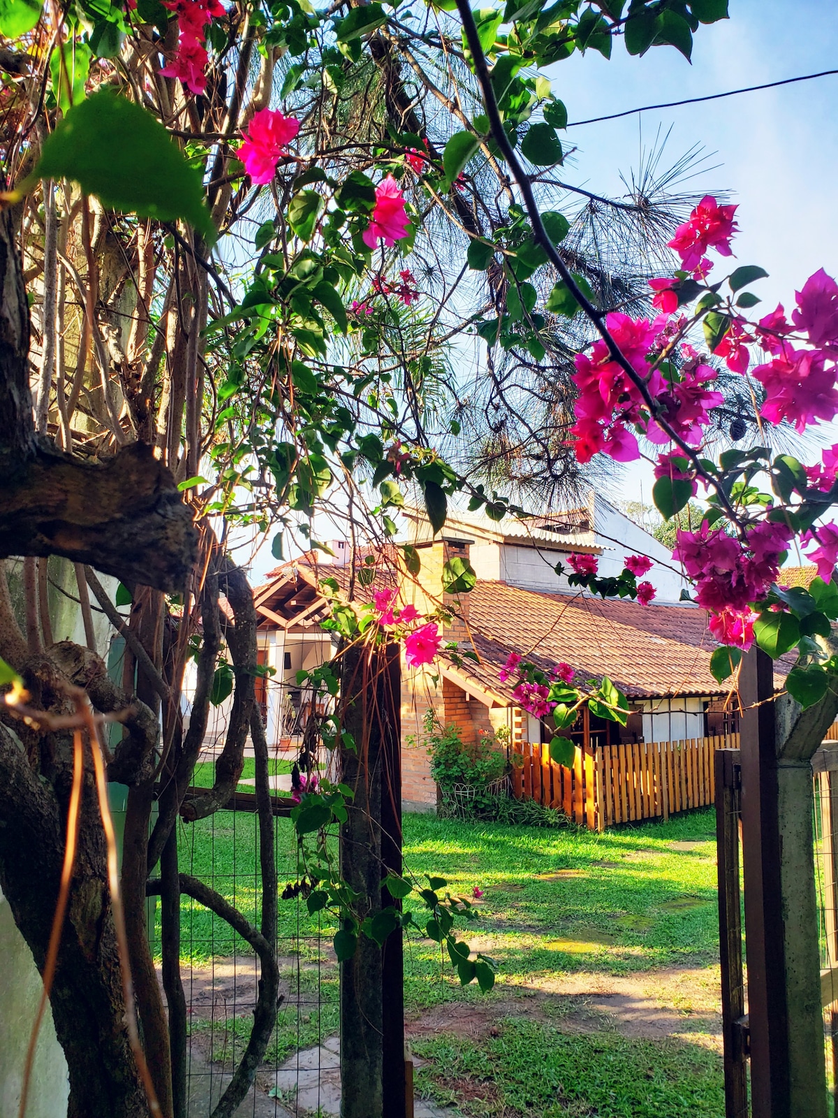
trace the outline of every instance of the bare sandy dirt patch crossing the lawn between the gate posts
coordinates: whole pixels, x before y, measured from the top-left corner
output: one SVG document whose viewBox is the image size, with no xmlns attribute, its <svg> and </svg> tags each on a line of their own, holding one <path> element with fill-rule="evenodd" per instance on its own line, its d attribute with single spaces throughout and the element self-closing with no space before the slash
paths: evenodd
<svg viewBox="0 0 838 1118">
<path fill-rule="evenodd" d="M 498 1035 L 504 1017 L 522 1015 L 566 1033 L 604 1031 L 648 1040 L 691 1035 L 721 1050 L 718 968 L 561 975 L 483 1003 L 435 1006 L 407 1023 L 407 1035 Z"/>
</svg>

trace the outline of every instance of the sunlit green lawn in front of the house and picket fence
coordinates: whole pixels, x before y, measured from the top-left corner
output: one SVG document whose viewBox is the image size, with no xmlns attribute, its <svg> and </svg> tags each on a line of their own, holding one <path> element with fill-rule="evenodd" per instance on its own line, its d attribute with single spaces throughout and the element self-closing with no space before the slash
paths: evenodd
<svg viewBox="0 0 838 1118">
<path fill-rule="evenodd" d="M 419 1029 L 411 1041 L 426 1061 L 418 1089 L 440 1102 L 457 1101 L 475 1118 L 721 1118 L 721 1060 L 706 1035 L 649 1039 L 622 1034 L 609 1022 L 570 1027 L 572 1015 L 565 1015 L 575 1002 L 553 989 L 574 974 L 620 982 L 663 967 L 706 970 L 713 985 L 714 826 L 712 809 L 602 835 L 406 816 L 406 872 L 417 881 L 439 874 L 465 896 L 483 890 L 479 919 L 464 927 L 463 938 L 498 965 L 495 988 L 484 995 L 459 986 L 432 941 L 406 944 L 409 1021 L 421 1026 L 435 1014 L 463 1012 L 480 1024 L 470 1033 L 445 1020 L 439 1029 Z M 219 812 L 181 825 L 180 843 L 181 868 L 256 919 L 255 816 Z M 691 845 L 678 849 L 680 843 Z M 287 819 L 277 819 L 276 845 L 282 885 L 296 875 Z M 275 1059 L 335 1030 L 333 932 L 298 900 L 280 901 L 283 965 L 296 982 L 316 982 L 320 991 L 310 1004 L 282 1010 Z M 187 900 L 182 947 L 184 961 L 199 965 L 247 954 L 226 925 Z M 225 1034 L 222 1042 L 239 1048 L 241 1039 Z"/>
</svg>

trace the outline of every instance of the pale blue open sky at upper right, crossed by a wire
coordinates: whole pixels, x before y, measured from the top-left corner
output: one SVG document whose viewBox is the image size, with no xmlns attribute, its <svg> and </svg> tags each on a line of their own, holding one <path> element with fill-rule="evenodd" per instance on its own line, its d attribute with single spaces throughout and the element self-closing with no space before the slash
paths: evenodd
<svg viewBox="0 0 838 1118">
<path fill-rule="evenodd" d="M 620 42 L 610 61 L 589 51 L 553 67 L 553 92 L 573 121 L 838 68 L 835 3 L 731 0 L 730 12 L 730 20 L 699 28 L 692 65 L 672 47 L 632 58 Z M 603 193 L 623 192 L 619 172 L 638 165 L 641 144 L 651 145 L 659 126 L 666 132 L 673 125 L 670 161 L 694 143 L 716 153 L 710 164 L 720 165 L 694 184 L 731 192 L 740 207 L 736 263 L 764 267 L 769 278 L 754 292 L 766 310 L 777 302 L 788 309 L 812 272 L 838 272 L 836 106 L 838 75 L 832 75 L 573 127 L 566 134 L 579 151 L 568 180 Z M 825 442 L 836 438 L 834 425 L 825 428 Z M 630 467 L 613 495 L 637 500 L 642 482 L 648 502 L 649 479 L 642 466 Z"/>
</svg>

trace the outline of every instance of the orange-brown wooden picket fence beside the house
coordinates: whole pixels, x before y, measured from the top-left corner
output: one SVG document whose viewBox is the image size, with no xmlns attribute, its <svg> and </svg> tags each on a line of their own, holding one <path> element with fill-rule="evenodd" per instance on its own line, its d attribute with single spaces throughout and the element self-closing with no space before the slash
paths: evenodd
<svg viewBox="0 0 838 1118">
<path fill-rule="evenodd" d="M 590 831 L 613 823 L 669 818 L 713 803 L 713 757 L 737 749 L 739 735 L 684 741 L 635 741 L 578 748 L 573 767 L 550 759 L 546 743 L 516 742 L 513 790 L 518 799 L 560 807 Z"/>
</svg>

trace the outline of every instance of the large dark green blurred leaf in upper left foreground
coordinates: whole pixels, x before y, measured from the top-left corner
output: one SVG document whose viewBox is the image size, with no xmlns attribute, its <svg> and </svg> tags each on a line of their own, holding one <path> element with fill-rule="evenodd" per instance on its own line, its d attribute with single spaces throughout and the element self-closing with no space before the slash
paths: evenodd
<svg viewBox="0 0 838 1118">
<path fill-rule="evenodd" d="M 159 221 L 183 219 L 207 241 L 216 240 L 200 171 L 151 113 L 109 89 L 92 94 L 59 121 L 34 174 L 72 179 L 109 209 Z"/>
</svg>

